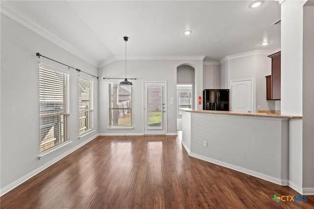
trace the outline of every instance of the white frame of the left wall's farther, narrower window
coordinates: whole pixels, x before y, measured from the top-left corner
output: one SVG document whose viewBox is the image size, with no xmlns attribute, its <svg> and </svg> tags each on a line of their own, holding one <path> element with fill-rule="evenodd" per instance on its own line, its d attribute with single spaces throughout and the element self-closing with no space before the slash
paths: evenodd
<svg viewBox="0 0 314 209">
<path fill-rule="evenodd" d="M 89 89 L 90 92 L 89 94 L 89 98 L 90 98 L 90 101 L 89 101 L 89 105 L 91 108 L 89 109 L 81 109 L 80 106 L 81 105 L 81 81 L 82 82 L 89 82 L 91 83 L 91 88 Z M 81 120 L 81 112 L 85 112 L 87 113 L 88 112 L 88 123 L 89 123 L 89 129 L 87 129 L 86 131 L 83 131 L 83 132 L 80 132 L 81 130 L 81 127 L 80 127 L 80 120 Z M 94 80 L 93 79 L 90 79 L 90 78 L 86 78 L 86 77 L 83 77 L 83 76 L 78 76 L 78 135 L 79 137 L 83 137 L 85 136 L 86 134 L 90 133 L 91 131 L 94 131 Z"/>
</svg>

